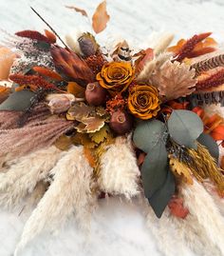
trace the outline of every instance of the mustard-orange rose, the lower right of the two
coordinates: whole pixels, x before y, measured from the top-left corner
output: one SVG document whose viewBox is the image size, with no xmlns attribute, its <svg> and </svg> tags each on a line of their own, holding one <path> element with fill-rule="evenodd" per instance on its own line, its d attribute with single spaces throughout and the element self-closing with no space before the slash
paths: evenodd
<svg viewBox="0 0 224 256">
<path fill-rule="evenodd" d="M 143 120 L 158 115 L 159 112 L 158 89 L 150 85 L 136 85 L 130 89 L 127 105 L 130 112 Z"/>
</svg>

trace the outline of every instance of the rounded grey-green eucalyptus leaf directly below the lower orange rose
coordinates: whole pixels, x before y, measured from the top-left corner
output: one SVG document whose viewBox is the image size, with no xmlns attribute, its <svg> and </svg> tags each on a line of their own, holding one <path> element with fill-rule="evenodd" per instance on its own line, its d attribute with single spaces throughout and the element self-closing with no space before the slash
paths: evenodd
<svg viewBox="0 0 224 256">
<path fill-rule="evenodd" d="M 144 152 L 154 150 L 167 138 L 165 124 L 159 120 L 141 121 L 134 131 L 133 141 Z"/>
</svg>

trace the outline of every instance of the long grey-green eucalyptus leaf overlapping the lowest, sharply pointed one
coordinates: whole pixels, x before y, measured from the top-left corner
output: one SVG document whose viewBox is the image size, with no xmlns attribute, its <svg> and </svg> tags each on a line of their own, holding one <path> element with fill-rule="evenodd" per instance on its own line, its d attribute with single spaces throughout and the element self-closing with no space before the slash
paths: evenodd
<svg viewBox="0 0 224 256">
<path fill-rule="evenodd" d="M 150 198 L 164 183 L 167 175 L 167 151 L 164 144 L 148 152 L 141 167 L 145 197 Z"/>
</svg>

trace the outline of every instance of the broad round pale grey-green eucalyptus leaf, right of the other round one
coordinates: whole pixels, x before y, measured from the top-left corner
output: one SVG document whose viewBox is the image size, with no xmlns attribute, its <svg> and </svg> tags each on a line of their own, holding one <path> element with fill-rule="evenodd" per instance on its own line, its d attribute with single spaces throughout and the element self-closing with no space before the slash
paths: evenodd
<svg viewBox="0 0 224 256">
<path fill-rule="evenodd" d="M 196 148 L 196 139 L 203 131 L 203 123 L 196 113 L 173 110 L 167 124 L 169 133 L 177 144 Z"/>
</svg>

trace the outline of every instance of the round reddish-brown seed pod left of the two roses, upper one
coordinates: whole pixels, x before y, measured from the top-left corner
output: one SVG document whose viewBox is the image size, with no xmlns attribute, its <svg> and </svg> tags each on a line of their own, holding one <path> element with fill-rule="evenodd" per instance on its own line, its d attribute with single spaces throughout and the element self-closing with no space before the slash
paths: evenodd
<svg viewBox="0 0 224 256">
<path fill-rule="evenodd" d="M 88 84 L 84 94 L 89 105 L 101 106 L 106 102 L 107 90 L 103 89 L 98 82 Z"/>
</svg>

